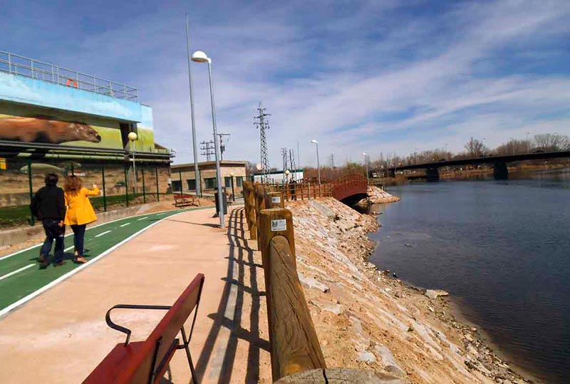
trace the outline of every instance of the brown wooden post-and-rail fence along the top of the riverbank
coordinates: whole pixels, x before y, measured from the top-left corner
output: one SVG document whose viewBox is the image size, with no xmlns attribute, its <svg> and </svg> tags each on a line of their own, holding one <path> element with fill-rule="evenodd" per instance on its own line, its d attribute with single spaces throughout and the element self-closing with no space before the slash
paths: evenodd
<svg viewBox="0 0 570 384">
<path fill-rule="evenodd" d="M 296 191 L 303 186 L 296 185 Z M 247 227 L 250 238 L 257 239 L 264 269 L 274 382 L 403 384 L 394 376 L 373 371 L 326 367 L 297 274 L 293 214 L 284 208 L 289 190 L 279 187 L 244 182 Z M 322 187 L 318 189 L 321 195 L 331 196 L 333 184 Z M 315 195 L 318 194 L 309 194 L 311 198 Z"/>
</svg>

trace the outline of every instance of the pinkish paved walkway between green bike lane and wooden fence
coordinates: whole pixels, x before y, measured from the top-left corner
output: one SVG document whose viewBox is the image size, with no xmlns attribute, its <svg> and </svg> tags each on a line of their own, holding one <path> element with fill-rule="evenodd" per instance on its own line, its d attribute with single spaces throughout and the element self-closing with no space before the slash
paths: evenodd
<svg viewBox="0 0 570 384">
<path fill-rule="evenodd" d="M 192 356 L 201 383 L 270 382 L 259 252 L 244 241 L 242 208 L 219 229 L 213 209 L 168 217 L 0 319 L 1 383 L 80 383 L 123 334 L 105 325 L 116 303 L 172 304 L 206 276 Z M 162 313 L 117 311 L 143 340 Z M 183 353 L 163 383 L 189 383 Z"/>
</svg>

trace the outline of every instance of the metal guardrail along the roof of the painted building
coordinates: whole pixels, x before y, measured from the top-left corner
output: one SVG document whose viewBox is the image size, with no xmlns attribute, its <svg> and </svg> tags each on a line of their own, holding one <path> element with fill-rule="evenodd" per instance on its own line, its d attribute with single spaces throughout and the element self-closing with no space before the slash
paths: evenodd
<svg viewBox="0 0 570 384">
<path fill-rule="evenodd" d="M 0 51 L 0 71 L 12 75 L 35 78 L 48 83 L 88 90 L 113 98 L 137 101 L 138 89 L 115 81 L 97 78 L 86 73 L 54 66 L 50 63 Z"/>
</svg>

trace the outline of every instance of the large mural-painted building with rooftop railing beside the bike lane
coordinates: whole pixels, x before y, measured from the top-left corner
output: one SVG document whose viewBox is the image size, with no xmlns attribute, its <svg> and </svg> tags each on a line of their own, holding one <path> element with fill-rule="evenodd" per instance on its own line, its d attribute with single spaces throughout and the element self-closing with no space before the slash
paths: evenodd
<svg viewBox="0 0 570 384">
<path fill-rule="evenodd" d="M 48 172 L 98 185 L 95 209 L 160 199 L 171 157 L 136 88 L 0 51 L 0 227 Z"/>
</svg>

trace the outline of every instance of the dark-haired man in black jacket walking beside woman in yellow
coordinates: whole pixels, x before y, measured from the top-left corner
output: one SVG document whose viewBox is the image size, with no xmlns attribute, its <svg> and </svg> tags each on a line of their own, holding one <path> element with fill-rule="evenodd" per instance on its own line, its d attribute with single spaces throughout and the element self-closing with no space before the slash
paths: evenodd
<svg viewBox="0 0 570 384">
<path fill-rule="evenodd" d="M 63 235 L 66 233 L 66 226 L 63 220 L 66 218 L 66 202 L 63 197 L 63 190 L 56 187 L 58 175 L 48 173 L 46 175 L 46 186 L 41 187 L 31 199 L 30 209 L 33 216 L 41 220 L 43 230 L 46 232 L 46 240 L 40 250 L 39 261 L 42 268 L 49 265 L 49 253 L 51 244 L 56 240 L 56 249 L 53 251 L 53 262 L 56 266 L 62 266 L 63 261 Z"/>
</svg>

